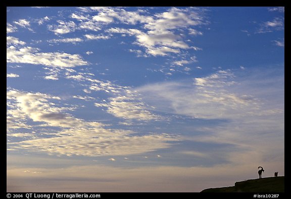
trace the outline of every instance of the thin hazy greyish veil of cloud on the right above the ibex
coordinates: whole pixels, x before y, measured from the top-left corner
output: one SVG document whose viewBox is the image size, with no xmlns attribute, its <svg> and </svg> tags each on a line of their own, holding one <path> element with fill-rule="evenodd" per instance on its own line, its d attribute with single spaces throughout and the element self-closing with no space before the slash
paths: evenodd
<svg viewBox="0 0 291 199">
<path fill-rule="evenodd" d="M 218 122 L 214 126 L 193 128 L 196 135 L 181 139 L 230 144 L 237 149 L 225 153 L 230 165 L 244 164 L 254 156 L 262 158 L 258 164 L 272 162 L 272 158 L 284 160 L 283 75 L 278 68 L 246 68 L 197 77 L 193 84 L 168 81 L 136 90 L 156 111 L 189 116 L 205 123 Z M 272 147 L 266 143 L 272 143 Z M 201 151 L 192 155 L 207 157 Z"/>
</svg>

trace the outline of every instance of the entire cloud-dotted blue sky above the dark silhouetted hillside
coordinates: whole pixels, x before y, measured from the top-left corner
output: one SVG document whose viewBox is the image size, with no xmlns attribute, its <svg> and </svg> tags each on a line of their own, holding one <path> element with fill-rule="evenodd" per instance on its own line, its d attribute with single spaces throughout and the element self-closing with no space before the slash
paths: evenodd
<svg viewBox="0 0 291 199">
<path fill-rule="evenodd" d="M 8 192 L 284 176 L 284 7 L 7 7 Z"/>
</svg>

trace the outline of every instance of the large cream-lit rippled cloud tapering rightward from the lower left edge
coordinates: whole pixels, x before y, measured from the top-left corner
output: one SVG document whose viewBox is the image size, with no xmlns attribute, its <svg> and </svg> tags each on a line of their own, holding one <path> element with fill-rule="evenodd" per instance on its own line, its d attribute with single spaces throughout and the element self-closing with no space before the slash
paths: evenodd
<svg viewBox="0 0 291 199">
<path fill-rule="evenodd" d="M 166 134 L 138 136 L 132 131 L 105 129 L 102 123 L 86 122 L 66 113 L 74 110 L 74 107 L 58 106 L 57 103 L 61 99 L 57 96 L 9 90 L 7 100 L 7 124 L 10 132 L 8 136 L 22 136 L 13 134 L 12 131 L 27 127 L 27 120 L 32 120 L 42 127 L 62 126 L 62 130 L 51 134 L 51 137 L 43 138 L 41 134 L 34 134 L 36 137 L 33 139 L 12 142 L 9 147 L 11 149 L 25 148 L 68 156 L 129 155 L 166 148 L 170 146 L 168 141 L 177 140 L 176 137 Z M 10 123 L 11 118 L 14 123 Z"/>
</svg>

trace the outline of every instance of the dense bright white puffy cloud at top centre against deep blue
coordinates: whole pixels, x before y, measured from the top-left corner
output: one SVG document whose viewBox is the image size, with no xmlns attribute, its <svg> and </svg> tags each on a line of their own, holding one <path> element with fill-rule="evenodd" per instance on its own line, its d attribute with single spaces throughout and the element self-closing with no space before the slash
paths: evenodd
<svg viewBox="0 0 291 199">
<path fill-rule="evenodd" d="M 124 12 L 131 15 L 130 12 Z M 140 17 L 134 17 L 131 23 L 144 23 L 144 28 L 148 29 L 142 32 L 138 29 L 110 28 L 112 33 L 125 33 L 136 37 L 134 44 L 146 49 L 146 53 L 153 56 L 167 56 L 169 53 L 180 53 L 180 49 L 201 50 L 198 47 L 190 47 L 183 38 L 175 33 L 175 29 L 186 28 L 204 24 L 201 13 L 193 8 L 177 9 L 171 8 L 168 12 L 156 14 L 155 17 L 147 17 L 141 20 Z M 136 16 L 140 16 L 139 14 Z"/>
</svg>

